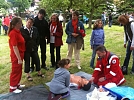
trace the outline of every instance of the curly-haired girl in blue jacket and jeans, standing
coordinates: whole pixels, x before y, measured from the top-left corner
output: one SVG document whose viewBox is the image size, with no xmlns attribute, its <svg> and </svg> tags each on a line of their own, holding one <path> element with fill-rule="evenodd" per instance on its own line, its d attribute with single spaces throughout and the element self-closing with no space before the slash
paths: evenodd
<svg viewBox="0 0 134 100">
<path fill-rule="evenodd" d="M 104 30 L 103 30 L 103 25 L 102 25 L 102 20 L 97 19 L 93 25 L 93 31 L 90 39 L 90 45 L 91 49 L 93 50 L 92 53 L 92 59 L 90 61 L 90 67 L 94 68 L 94 59 L 96 56 L 96 47 L 99 45 L 104 45 Z"/>
</svg>

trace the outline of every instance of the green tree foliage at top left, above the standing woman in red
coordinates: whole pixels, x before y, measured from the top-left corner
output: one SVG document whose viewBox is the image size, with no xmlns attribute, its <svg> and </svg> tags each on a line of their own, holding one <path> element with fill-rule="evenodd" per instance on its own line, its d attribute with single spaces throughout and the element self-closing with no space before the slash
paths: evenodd
<svg viewBox="0 0 134 100">
<path fill-rule="evenodd" d="M 21 15 L 27 8 L 30 7 L 32 1 L 30 0 L 7 0 L 12 4 L 12 8 L 16 8 L 16 13 Z"/>
</svg>

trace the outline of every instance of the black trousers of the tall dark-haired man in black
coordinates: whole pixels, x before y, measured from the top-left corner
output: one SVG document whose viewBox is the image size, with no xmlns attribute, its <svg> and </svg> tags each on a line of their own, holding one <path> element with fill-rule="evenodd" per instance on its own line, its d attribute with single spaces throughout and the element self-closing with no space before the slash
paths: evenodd
<svg viewBox="0 0 134 100">
<path fill-rule="evenodd" d="M 41 50 L 41 64 L 42 67 L 46 66 L 46 39 L 40 39 L 40 50 Z"/>
</svg>

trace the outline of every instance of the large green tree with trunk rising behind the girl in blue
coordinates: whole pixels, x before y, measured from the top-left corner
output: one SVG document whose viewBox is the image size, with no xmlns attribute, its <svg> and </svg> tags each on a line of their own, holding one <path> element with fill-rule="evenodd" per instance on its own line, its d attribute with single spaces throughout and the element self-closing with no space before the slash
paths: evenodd
<svg viewBox="0 0 134 100">
<path fill-rule="evenodd" d="M 48 13 L 62 10 L 66 14 L 67 10 L 75 9 L 88 14 L 89 28 L 91 28 L 94 14 L 98 13 L 101 16 L 102 11 L 107 9 L 107 2 L 113 2 L 113 0 L 42 0 L 40 4 Z"/>
</svg>

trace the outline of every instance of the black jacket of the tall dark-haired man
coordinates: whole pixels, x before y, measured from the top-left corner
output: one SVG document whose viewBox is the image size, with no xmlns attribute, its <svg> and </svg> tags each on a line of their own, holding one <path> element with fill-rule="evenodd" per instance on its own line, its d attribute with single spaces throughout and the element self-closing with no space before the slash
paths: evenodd
<svg viewBox="0 0 134 100">
<path fill-rule="evenodd" d="M 45 39 L 45 37 L 49 38 L 49 25 L 44 18 L 42 20 L 39 20 L 38 16 L 36 16 L 34 19 L 33 26 L 35 26 L 38 29 L 40 39 Z"/>
</svg>

